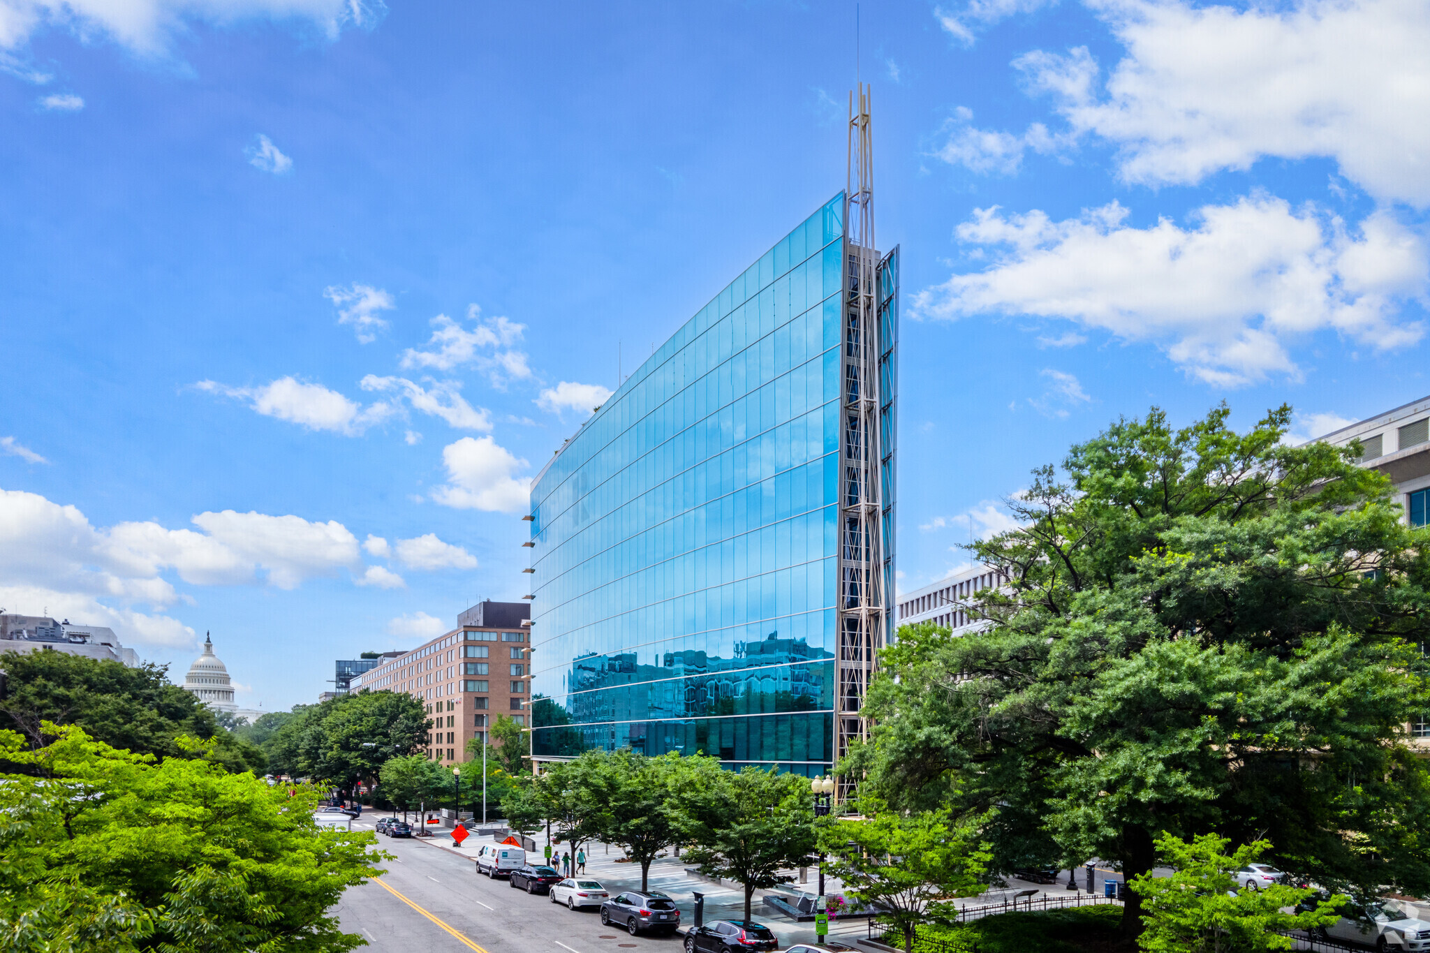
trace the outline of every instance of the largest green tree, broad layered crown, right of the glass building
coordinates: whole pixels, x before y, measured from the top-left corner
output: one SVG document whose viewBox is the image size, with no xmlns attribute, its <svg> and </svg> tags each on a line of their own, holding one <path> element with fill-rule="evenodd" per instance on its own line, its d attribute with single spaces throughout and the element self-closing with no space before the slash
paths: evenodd
<svg viewBox="0 0 1430 953">
<path fill-rule="evenodd" d="M 1161 832 L 1270 832 L 1326 884 L 1430 889 L 1430 530 L 1400 523 L 1357 447 L 1287 447 L 1290 409 L 1161 411 L 1034 474 L 1020 527 L 974 549 L 1008 582 L 984 629 L 905 627 L 881 656 L 872 740 L 842 770 L 895 807 L 997 806 L 994 869 L 1113 862 Z M 1137 892 L 1124 932 L 1141 930 Z"/>
</svg>

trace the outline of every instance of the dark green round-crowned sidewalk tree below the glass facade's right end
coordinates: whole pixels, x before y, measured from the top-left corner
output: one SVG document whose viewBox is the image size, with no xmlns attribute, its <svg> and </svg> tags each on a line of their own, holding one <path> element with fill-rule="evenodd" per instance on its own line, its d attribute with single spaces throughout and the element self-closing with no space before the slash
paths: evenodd
<svg viewBox="0 0 1430 953">
<path fill-rule="evenodd" d="M 779 872 L 808 862 L 815 846 L 809 779 L 776 769 L 721 770 L 715 759 L 689 764 L 674 784 L 672 810 L 691 842 L 686 859 L 708 877 L 745 889 L 745 920 L 755 890 L 788 883 Z"/>
</svg>

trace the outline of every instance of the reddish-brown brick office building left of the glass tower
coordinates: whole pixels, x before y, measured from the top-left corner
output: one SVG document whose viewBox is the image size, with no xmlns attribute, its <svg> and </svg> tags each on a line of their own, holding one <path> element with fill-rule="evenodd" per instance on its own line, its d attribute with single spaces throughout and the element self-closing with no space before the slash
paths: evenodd
<svg viewBox="0 0 1430 953">
<path fill-rule="evenodd" d="M 480 602 L 456 629 L 358 674 L 352 692 L 406 692 L 432 716 L 426 754 L 445 763 L 466 759 L 466 743 L 486 739 L 498 714 L 526 724 L 531 697 L 526 603 Z"/>
</svg>

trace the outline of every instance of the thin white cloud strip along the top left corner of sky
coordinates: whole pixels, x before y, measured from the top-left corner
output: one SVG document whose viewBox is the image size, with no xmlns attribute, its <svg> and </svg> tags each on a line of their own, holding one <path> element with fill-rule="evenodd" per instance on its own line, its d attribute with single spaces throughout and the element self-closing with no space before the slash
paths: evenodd
<svg viewBox="0 0 1430 953">
<path fill-rule="evenodd" d="M 335 39 L 349 26 L 373 27 L 385 11 L 382 0 L 0 0 L 0 50 L 23 47 L 44 30 L 63 30 L 159 56 L 193 23 L 249 20 L 307 20 Z"/>
</svg>

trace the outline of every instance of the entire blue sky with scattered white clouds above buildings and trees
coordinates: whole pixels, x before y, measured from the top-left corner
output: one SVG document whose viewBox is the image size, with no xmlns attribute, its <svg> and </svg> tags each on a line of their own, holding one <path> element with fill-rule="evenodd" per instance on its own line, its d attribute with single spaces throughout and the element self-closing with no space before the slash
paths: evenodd
<svg viewBox="0 0 1430 953">
<path fill-rule="evenodd" d="M 523 594 L 526 480 L 844 187 L 899 570 L 1120 414 L 1430 390 L 1419 1 L 0 0 L 0 606 L 267 709 Z"/>
</svg>

